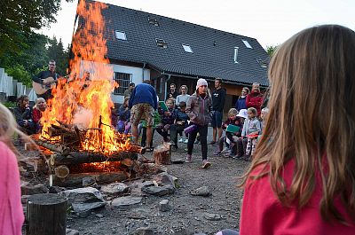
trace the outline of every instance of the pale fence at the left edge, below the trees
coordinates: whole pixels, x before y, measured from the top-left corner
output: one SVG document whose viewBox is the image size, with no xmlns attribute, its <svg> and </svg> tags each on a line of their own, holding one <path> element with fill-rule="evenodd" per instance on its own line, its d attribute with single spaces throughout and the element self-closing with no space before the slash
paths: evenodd
<svg viewBox="0 0 355 235">
<path fill-rule="evenodd" d="M 21 95 L 27 95 L 32 102 L 37 98 L 35 90 L 13 79 L 5 73 L 3 67 L 0 67 L 0 101 L 15 100 Z"/>
</svg>

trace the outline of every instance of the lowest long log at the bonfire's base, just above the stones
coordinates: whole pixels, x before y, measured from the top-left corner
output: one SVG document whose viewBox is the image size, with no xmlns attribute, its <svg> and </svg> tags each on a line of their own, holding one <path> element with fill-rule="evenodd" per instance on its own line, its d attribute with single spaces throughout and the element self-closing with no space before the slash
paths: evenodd
<svg viewBox="0 0 355 235">
<path fill-rule="evenodd" d="M 69 174 L 65 178 L 59 178 L 58 176 L 53 176 L 53 185 L 57 185 L 60 187 L 83 186 L 83 178 L 85 177 L 95 178 L 98 184 L 122 182 L 128 179 L 128 176 L 126 176 L 126 174 L 122 171 L 78 173 L 78 174 Z"/>
</svg>

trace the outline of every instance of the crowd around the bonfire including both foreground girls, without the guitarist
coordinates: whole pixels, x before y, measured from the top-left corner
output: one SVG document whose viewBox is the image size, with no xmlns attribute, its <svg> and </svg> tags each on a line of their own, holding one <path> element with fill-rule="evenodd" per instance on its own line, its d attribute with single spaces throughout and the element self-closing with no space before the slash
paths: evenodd
<svg viewBox="0 0 355 235">
<path fill-rule="evenodd" d="M 124 124 L 119 131 L 126 131 L 130 116 L 138 144 L 138 126 L 146 121 L 146 146 L 151 148 L 154 128 L 164 140 L 173 139 L 173 145 L 184 128 L 187 162 L 193 161 L 199 134 L 202 168 L 209 168 L 207 133 L 212 123 L 215 138 L 210 144 L 218 142 L 218 152 L 227 146 L 235 156 L 251 158 L 239 184 L 244 190 L 240 231 L 217 235 L 355 234 L 355 32 L 337 25 L 304 29 L 277 49 L 269 79 L 272 87 L 264 97 L 258 83 L 250 92 L 244 88 L 224 122 L 220 79 L 212 93 L 208 82 L 199 79 L 193 94 L 178 103 L 175 85 L 159 102 L 154 87 L 144 81 L 122 105 L 126 119 L 120 117 Z M 37 101 L 35 108 L 41 111 L 45 105 Z M 16 123 L 0 104 L 0 234 L 21 234 L 24 215 L 12 137 L 18 133 L 26 138 L 17 127 L 36 131 L 31 111 L 28 98 L 19 98 Z"/>
</svg>

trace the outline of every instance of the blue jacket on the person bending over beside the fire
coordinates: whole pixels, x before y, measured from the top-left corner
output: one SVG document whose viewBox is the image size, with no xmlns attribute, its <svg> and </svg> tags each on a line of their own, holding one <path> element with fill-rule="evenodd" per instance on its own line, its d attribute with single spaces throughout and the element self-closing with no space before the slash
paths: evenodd
<svg viewBox="0 0 355 235">
<path fill-rule="evenodd" d="M 141 103 L 149 104 L 154 107 L 154 110 L 158 108 L 158 101 L 154 87 L 146 83 L 140 83 L 132 90 L 129 107 L 132 108 L 132 106 Z"/>
</svg>

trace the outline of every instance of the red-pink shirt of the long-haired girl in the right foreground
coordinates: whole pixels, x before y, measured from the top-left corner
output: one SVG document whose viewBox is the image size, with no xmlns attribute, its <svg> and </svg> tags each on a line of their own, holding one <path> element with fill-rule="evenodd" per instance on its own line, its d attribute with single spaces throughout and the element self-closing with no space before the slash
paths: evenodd
<svg viewBox="0 0 355 235">
<path fill-rule="evenodd" d="M 294 161 L 288 161 L 285 165 L 284 179 L 287 185 L 290 185 L 292 181 L 294 166 Z M 335 221 L 326 222 L 321 218 L 319 212 L 319 201 L 322 196 L 320 182 L 318 175 L 316 188 L 308 205 L 300 210 L 296 206 L 287 208 L 281 205 L 272 191 L 269 176 L 256 180 L 251 186 L 248 186 L 249 182 L 247 182 L 241 209 L 241 235 L 354 235 L 353 223 L 351 226 L 345 226 Z M 335 207 L 349 221 L 339 199 L 335 199 Z"/>
</svg>

